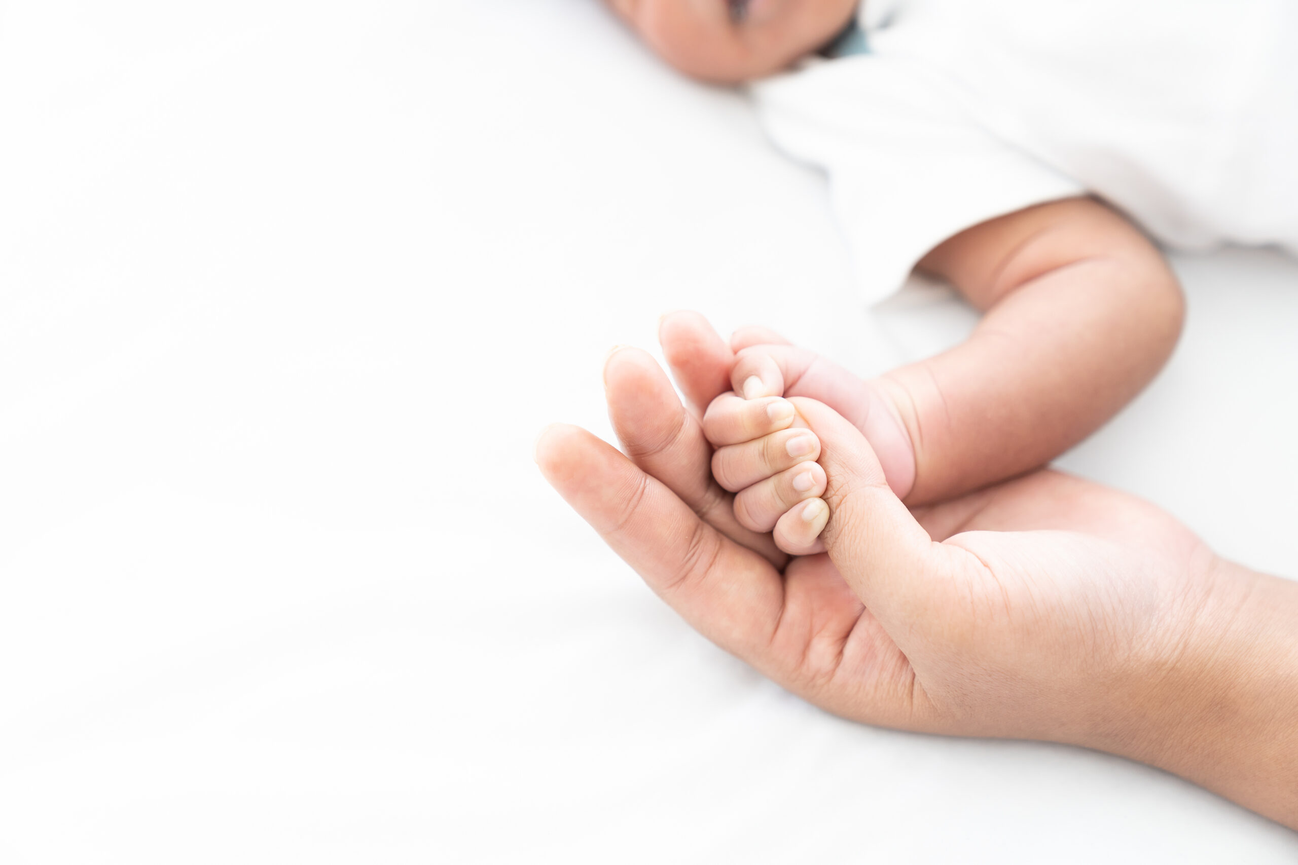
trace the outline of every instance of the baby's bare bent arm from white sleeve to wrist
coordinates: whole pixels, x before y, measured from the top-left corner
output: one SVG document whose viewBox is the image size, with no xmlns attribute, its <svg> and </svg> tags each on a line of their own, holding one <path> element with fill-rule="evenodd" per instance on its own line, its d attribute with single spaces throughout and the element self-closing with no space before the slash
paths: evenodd
<svg viewBox="0 0 1298 865">
<path fill-rule="evenodd" d="M 1019 222 L 935 257 L 989 306 L 970 340 L 875 381 L 915 449 L 910 503 L 1047 463 L 1134 397 L 1180 335 L 1175 276 L 1115 214 L 1071 201 L 1006 219 Z M 990 254 L 997 245 L 1009 250 Z"/>
</svg>

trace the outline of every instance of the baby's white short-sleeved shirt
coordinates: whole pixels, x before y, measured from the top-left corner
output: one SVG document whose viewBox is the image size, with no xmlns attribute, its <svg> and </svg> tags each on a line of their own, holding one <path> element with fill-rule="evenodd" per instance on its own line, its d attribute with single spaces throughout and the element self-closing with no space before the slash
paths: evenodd
<svg viewBox="0 0 1298 865">
<path fill-rule="evenodd" d="M 942 240 L 1097 195 L 1164 244 L 1298 254 L 1294 0 L 866 0 L 868 53 L 750 86 L 829 178 L 863 292 Z"/>
</svg>

